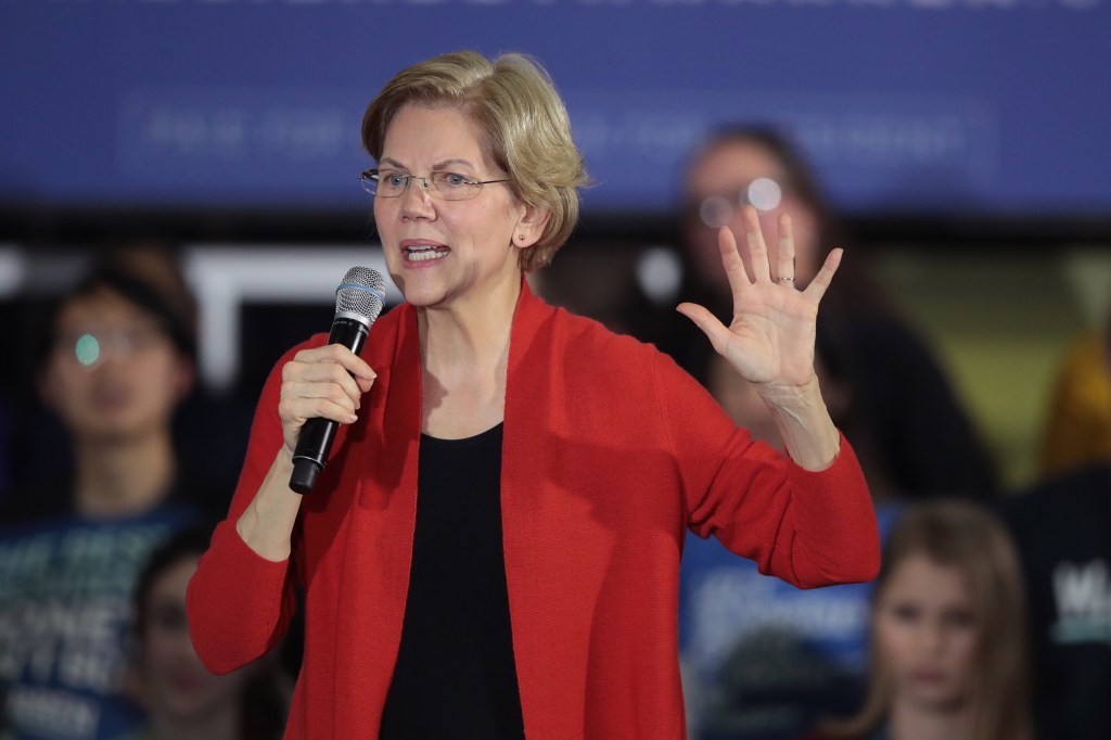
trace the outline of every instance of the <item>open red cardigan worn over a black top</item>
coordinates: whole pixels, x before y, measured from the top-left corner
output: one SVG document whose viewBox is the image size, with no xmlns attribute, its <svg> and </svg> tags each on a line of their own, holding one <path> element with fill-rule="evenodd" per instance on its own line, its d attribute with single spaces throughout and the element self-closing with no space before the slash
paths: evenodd
<svg viewBox="0 0 1111 740">
<path fill-rule="evenodd" d="M 276 370 L 228 519 L 189 586 L 193 641 L 218 673 L 272 647 L 307 589 L 286 738 L 374 737 L 401 640 L 421 426 L 416 310 L 382 317 L 362 356 L 378 380 L 302 506 L 291 559 L 268 561 L 236 531 L 282 444 Z M 684 737 L 677 594 L 688 528 L 800 587 L 879 568 L 868 488 L 844 439 L 828 470 L 807 472 L 737 429 L 668 357 L 553 309 L 527 283 L 501 498 L 530 740 Z"/>
</svg>

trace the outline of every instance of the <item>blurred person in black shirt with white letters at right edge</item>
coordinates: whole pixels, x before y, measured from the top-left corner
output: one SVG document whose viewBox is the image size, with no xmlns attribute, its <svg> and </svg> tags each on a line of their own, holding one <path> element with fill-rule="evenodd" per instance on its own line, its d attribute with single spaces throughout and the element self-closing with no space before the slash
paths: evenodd
<svg viewBox="0 0 1111 740">
<path fill-rule="evenodd" d="M 1111 740 L 1111 463 L 1001 501 L 1030 594 L 1044 740 Z"/>
</svg>

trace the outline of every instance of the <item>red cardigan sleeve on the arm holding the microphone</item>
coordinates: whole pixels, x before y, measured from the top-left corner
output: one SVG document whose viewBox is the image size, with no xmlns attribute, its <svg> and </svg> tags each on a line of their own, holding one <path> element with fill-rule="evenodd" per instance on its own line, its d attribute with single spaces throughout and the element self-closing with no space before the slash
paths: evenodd
<svg viewBox="0 0 1111 740">
<path fill-rule="evenodd" d="M 189 582 L 190 634 L 197 654 L 213 673 L 227 673 L 264 654 L 284 634 L 297 607 L 296 542 L 292 561 L 274 562 L 251 550 L 236 529 L 283 444 L 278 417 L 280 369 L 294 351 L 267 379 L 228 518 L 217 526 Z M 294 540 L 297 533 L 294 528 Z"/>
</svg>

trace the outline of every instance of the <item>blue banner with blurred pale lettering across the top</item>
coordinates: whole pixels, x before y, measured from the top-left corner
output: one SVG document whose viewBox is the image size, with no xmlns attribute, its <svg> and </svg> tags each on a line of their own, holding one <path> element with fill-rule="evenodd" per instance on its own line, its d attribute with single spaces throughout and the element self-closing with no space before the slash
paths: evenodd
<svg viewBox="0 0 1111 740">
<path fill-rule="evenodd" d="M 1111 0 L 0 0 L 0 206 L 359 208 L 359 127 L 459 48 L 551 71 L 593 213 L 772 121 L 850 212 L 1111 213 Z"/>
</svg>

